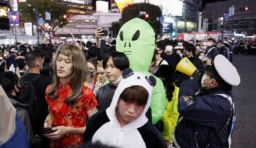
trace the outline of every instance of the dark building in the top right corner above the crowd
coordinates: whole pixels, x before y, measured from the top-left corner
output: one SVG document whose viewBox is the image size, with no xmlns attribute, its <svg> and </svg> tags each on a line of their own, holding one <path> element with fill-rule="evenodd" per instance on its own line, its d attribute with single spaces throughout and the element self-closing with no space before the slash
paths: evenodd
<svg viewBox="0 0 256 148">
<path fill-rule="evenodd" d="M 230 14 L 233 7 L 234 15 Z M 206 3 L 203 12 L 203 28 L 208 32 L 232 33 L 239 36 L 256 34 L 256 1 L 230 0 Z M 224 14 L 225 13 L 225 14 Z"/>
</svg>

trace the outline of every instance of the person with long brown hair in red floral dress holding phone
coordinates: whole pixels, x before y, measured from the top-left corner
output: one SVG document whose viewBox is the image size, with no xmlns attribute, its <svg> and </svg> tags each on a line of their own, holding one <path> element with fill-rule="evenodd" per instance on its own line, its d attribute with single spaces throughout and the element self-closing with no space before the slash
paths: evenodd
<svg viewBox="0 0 256 148">
<path fill-rule="evenodd" d="M 52 148 L 79 147 L 86 120 L 98 105 L 92 89 L 84 86 L 88 67 L 82 50 L 71 44 L 61 46 L 54 71 L 53 83 L 46 88 L 49 114 L 44 121 L 44 128 L 53 132 L 44 136 L 52 139 Z"/>
</svg>

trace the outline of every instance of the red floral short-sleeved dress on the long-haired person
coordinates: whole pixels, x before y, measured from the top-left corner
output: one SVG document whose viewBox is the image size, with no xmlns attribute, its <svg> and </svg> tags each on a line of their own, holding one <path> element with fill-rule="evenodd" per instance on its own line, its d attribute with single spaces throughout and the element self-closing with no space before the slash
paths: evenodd
<svg viewBox="0 0 256 148">
<path fill-rule="evenodd" d="M 48 92 L 51 88 L 49 85 L 46 88 Z M 53 100 L 47 94 L 45 95 L 46 102 L 53 113 L 54 123 L 53 126 L 71 126 L 71 127 L 84 127 L 88 118 L 87 111 L 92 110 L 98 105 L 92 89 L 83 87 L 84 96 L 80 98 L 75 106 L 67 106 L 64 102 L 65 98 L 71 94 L 71 87 L 66 83 L 64 87 L 59 85 L 59 98 Z M 83 135 L 67 135 L 57 141 L 51 141 L 51 148 L 74 147 L 82 145 Z"/>
</svg>

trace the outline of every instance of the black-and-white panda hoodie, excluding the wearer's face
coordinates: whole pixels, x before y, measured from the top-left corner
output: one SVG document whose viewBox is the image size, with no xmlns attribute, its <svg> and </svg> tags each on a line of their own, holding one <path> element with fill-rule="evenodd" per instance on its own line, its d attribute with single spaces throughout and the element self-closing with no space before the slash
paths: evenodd
<svg viewBox="0 0 256 148">
<path fill-rule="evenodd" d="M 91 133 L 92 136 L 92 143 L 96 141 L 100 141 L 104 145 L 110 145 L 115 147 L 122 147 L 122 148 L 143 148 L 143 147 L 165 147 L 164 139 L 162 138 L 161 134 L 157 131 L 157 129 L 148 122 L 148 118 L 146 117 L 146 112 L 150 108 L 151 98 L 152 98 L 152 91 L 153 91 L 153 83 L 156 83 L 154 77 L 148 77 L 142 73 L 129 73 L 127 76 L 124 76 L 123 79 L 120 81 L 115 94 L 113 96 L 113 100 L 110 104 L 110 107 L 106 109 L 106 118 L 108 118 L 108 122 L 104 122 L 98 130 L 94 134 L 90 130 L 90 125 L 86 128 L 86 133 Z M 117 120 L 116 116 L 116 108 L 117 103 L 119 100 L 120 95 L 122 92 L 127 88 L 134 85 L 139 85 L 144 87 L 148 91 L 148 102 L 146 103 L 145 108 L 141 115 L 130 122 L 129 124 L 121 127 L 119 121 Z M 98 112 L 100 114 L 100 112 Z M 98 114 L 97 113 L 97 114 Z M 98 115 L 96 115 L 98 116 Z M 99 126 L 97 123 L 100 122 L 104 117 L 98 116 L 98 118 L 92 116 L 91 120 L 94 120 L 95 124 L 92 124 L 92 128 L 96 128 L 95 126 Z M 91 122 L 90 119 L 88 122 Z M 143 127 L 145 126 L 145 127 Z M 139 128 L 141 130 L 139 131 Z M 88 137 L 85 133 L 85 139 Z M 141 134 L 143 133 L 143 134 Z"/>
</svg>

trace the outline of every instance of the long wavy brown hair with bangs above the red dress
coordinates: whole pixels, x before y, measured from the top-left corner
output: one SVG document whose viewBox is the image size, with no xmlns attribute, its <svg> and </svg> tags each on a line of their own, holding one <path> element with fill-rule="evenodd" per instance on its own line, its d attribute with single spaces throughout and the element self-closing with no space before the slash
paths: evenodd
<svg viewBox="0 0 256 148">
<path fill-rule="evenodd" d="M 46 92 L 51 98 L 57 99 L 59 91 L 59 77 L 57 76 L 57 65 L 56 61 L 59 57 L 59 54 L 64 54 L 69 57 L 73 63 L 71 79 L 69 81 L 72 93 L 65 98 L 65 104 L 75 105 L 75 102 L 82 98 L 84 81 L 88 79 L 88 67 L 86 65 L 86 57 L 84 56 L 82 50 L 72 44 L 65 44 L 61 46 L 57 52 L 57 56 L 53 68 L 53 82 L 51 89 Z"/>
</svg>

